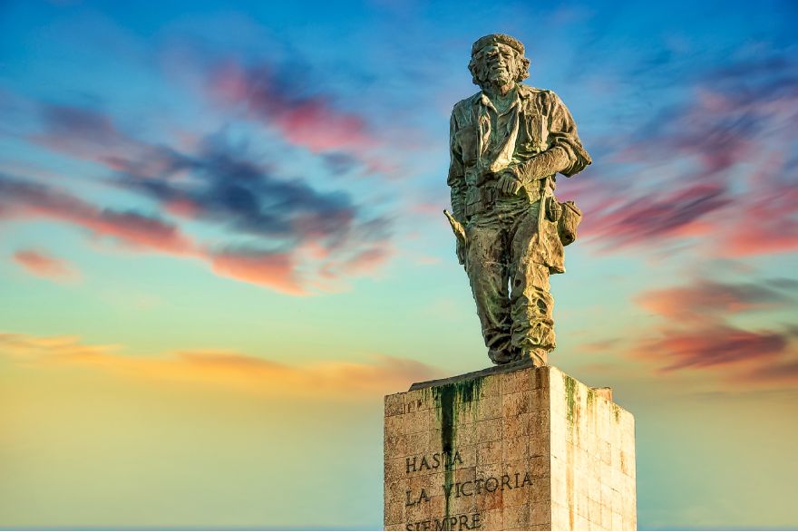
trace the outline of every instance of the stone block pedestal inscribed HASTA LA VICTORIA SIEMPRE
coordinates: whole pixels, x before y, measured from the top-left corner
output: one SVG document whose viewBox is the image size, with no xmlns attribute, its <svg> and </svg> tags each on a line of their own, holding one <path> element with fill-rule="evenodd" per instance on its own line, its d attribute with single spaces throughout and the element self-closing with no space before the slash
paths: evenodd
<svg viewBox="0 0 798 532">
<path fill-rule="evenodd" d="M 634 530 L 635 420 L 554 367 L 385 397 L 386 530 Z"/>
</svg>

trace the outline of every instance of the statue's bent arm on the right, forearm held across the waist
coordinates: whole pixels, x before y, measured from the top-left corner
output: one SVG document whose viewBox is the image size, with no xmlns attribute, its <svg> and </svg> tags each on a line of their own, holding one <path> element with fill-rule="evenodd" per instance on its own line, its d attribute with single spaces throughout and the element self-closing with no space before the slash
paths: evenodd
<svg viewBox="0 0 798 532">
<path fill-rule="evenodd" d="M 560 172 L 571 177 L 585 169 L 592 160 L 577 134 L 577 125 L 568 108 L 554 92 L 546 92 L 541 107 L 548 125 L 549 149 L 509 170 L 514 176 L 530 182 Z"/>
</svg>

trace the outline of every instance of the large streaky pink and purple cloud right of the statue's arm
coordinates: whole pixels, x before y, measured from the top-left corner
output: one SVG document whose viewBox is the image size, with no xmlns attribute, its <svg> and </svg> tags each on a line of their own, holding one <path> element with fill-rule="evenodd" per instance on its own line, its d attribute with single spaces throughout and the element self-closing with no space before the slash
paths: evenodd
<svg viewBox="0 0 798 532">
<path fill-rule="evenodd" d="M 685 91 L 630 140 L 605 142 L 625 147 L 572 187 L 584 236 L 604 253 L 686 242 L 726 257 L 798 249 L 798 63 L 732 60 Z"/>
</svg>

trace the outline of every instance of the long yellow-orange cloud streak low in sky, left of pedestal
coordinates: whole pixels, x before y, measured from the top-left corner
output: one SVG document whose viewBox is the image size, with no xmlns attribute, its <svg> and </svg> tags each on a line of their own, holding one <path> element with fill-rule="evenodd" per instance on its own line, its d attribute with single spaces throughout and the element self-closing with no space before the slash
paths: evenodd
<svg viewBox="0 0 798 532">
<path fill-rule="evenodd" d="M 443 376 L 433 366 L 375 355 L 368 363 L 323 361 L 287 365 L 224 350 L 164 356 L 116 354 L 117 345 L 87 345 L 77 336 L 0 333 L 0 357 L 25 365 L 101 368 L 131 378 L 228 386 L 267 395 L 358 398 L 403 390 L 408 382 Z"/>
</svg>

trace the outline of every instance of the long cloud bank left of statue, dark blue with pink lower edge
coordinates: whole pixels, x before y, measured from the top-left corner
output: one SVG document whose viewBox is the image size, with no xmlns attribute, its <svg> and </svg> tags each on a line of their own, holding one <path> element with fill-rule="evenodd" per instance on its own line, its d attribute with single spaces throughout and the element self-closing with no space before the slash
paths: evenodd
<svg viewBox="0 0 798 532">
<path fill-rule="evenodd" d="M 40 125 L 31 140 L 102 165 L 105 184 L 154 199 L 158 210 L 102 208 L 68 189 L 0 175 L 0 218 L 51 218 L 131 251 L 196 256 L 220 276 L 290 295 L 340 290 L 350 277 L 373 275 L 393 252 L 392 222 L 374 206 L 343 189 L 279 178 L 224 135 L 187 152 L 137 140 L 102 112 L 51 104 L 41 105 Z M 184 220 L 225 237 L 205 245 L 184 231 Z"/>
</svg>

